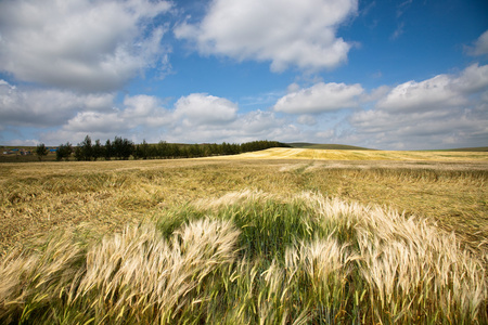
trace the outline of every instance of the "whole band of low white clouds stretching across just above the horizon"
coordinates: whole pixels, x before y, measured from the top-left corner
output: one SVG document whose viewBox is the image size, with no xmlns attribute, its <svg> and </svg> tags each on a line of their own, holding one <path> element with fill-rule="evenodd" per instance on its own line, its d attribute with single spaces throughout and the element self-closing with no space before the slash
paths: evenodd
<svg viewBox="0 0 488 325">
<path fill-rule="evenodd" d="M 76 144 L 90 134 L 102 141 L 115 135 L 134 142 L 268 139 L 383 150 L 486 146 L 488 139 L 488 65 L 370 92 L 360 84 L 332 82 L 306 89 L 292 84 L 288 92 L 274 100 L 274 110 L 243 113 L 236 103 L 206 93 L 191 93 L 165 107 L 164 100 L 145 94 L 118 102 L 112 93 L 41 91 L 0 80 L 0 120 L 7 126 L 0 136 L 17 132 L 33 139 L 31 130 L 16 129 L 29 126 L 56 128 L 37 128 L 39 140 L 50 145 Z M 356 109 L 343 109 L 348 107 Z"/>
</svg>

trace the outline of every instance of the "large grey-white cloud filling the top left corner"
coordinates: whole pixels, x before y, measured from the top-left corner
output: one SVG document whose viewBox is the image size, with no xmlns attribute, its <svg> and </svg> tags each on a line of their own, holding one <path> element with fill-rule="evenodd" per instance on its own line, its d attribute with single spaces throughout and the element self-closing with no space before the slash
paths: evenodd
<svg viewBox="0 0 488 325">
<path fill-rule="evenodd" d="M 168 1 L 1 1 L 0 70 L 18 80 L 112 91 L 169 51 L 167 26 L 145 27 Z"/>
</svg>

